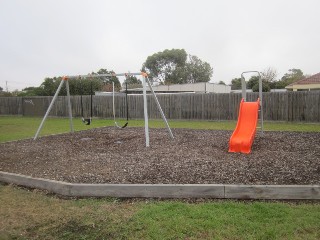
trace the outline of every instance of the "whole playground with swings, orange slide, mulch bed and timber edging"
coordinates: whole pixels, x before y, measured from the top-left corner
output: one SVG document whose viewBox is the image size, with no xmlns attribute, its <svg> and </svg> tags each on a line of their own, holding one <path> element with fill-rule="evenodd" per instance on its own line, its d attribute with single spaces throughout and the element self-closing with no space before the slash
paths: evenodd
<svg viewBox="0 0 320 240">
<path fill-rule="evenodd" d="M 254 102 L 246 100 L 244 74 L 248 73 L 257 74 L 259 79 L 259 97 Z M 0 146 L 0 150 L 3 148 L 1 152 L 4 158 L 0 164 L 2 179 L 10 183 L 51 189 L 58 194 L 74 194 L 74 196 L 109 196 L 111 194 L 110 196 L 117 197 L 210 196 L 218 198 L 309 199 L 313 198 L 315 194 L 315 198 L 317 198 L 317 184 L 320 182 L 319 136 L 316 133 L 264 133 L 262 78 L 259 72 L 247 71 L 241 74 L 242 100 L 238 121 L 233 132 L 175 129 L 174 133 L 168 124 L 148 75 L 143 72 L 131 74 L 142 77 L 144 129 L 127 128 L 129 120 L 127 87 L 127 122 L 124 125 L 117 123 L 113 85 L 115 127 L 75 132 L 69 79 L 81 80 L 87 77 L 92 79 L 102 76 L 128 77 L 129 75 L 127 73 L 112 73 L 64 76 L 33 141 L 9 142 Z M 70 133 L 39 139 L 40 132 L 64 84 L 67 90 Z M 166 131 L 153 129 L 150 133 L 147 85 Z M 90 118 L 84 118 L 81 108 L 82 122 L 85 125 L 90 125 L 92 122 L 92 94 L 90 103 Z M 260 128 L 259 134 L 257 134 L 258 126 Z M 152 145 L 150 139 L 152 139 Z M 253 146 L 254 140 L 255 145 Z M 24 180 L 21 181 L 21 177 Z M 31 179 L 30 181 L 28 177 Z M 34 185 L 39 181 L 40 185 Z M 69 190 L 66 192 L 63 191 L 65 184 L 69 184 L 67 187 Z M 77 184 L 85 192 L 77 190 Z M 103 188 L 103 190 L 96 192 L 93 190 L 93 185 L 86 184 L 96 184 L 96 187 Z M 153 184 L 155 186 L 152 186 Z M 115 185 L 116 189 L 112 190 L 113 186 L 111 185 Z M 134 189 L 132 189 L 133 185 Z M 241 187 L 237 185 L 241 185 Z M 248 191 L 251 191 L 250 185 L 255 189 L 253 195 L 250 193 L 247 195 L 241 189 L 248 188 Z M 283 185 L 293 185 L 293 188 L 286 187 L 289 195 L 281 187 Z M 300 188 L 299 185 L 305 186 Z M 169 188 L 169 190 L 167 192 L 160 191 L 161 187 Z M 139 188 L 140 190 L 138 190 Z M 232 195 L 232 189 L 236 189 L 235 191 L 240 194 Z M 87 190 L 89 192 L 86 192 Z M 106 193 L 105 191 L 111 192 Z M 262 196 L 262 193 L 266 195 Z M 292 193 L 295 193 L 294 196 Z"/>
</svg>

